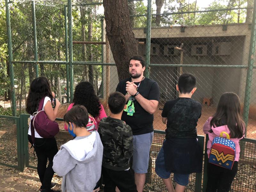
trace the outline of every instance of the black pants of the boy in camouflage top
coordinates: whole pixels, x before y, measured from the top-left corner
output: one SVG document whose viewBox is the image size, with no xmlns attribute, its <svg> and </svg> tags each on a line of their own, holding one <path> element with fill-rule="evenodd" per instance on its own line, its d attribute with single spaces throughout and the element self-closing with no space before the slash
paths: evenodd
<svg viewBox="0 0 256 192">
<path fill-rule="evenodd" d="M 114 171 L 102 167 L 101 172 L 105 184 L 104 192 L 115 192 L 116 186 L 121 192 L 137 192 L 137 187 L 131 170 Z"/>
</svg>

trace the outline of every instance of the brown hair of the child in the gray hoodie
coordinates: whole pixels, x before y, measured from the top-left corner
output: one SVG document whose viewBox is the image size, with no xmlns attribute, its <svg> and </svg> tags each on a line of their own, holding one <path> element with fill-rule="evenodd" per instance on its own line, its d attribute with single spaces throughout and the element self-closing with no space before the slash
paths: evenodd
<svg viewBox="0 0 256 192">
<path fill-rule="evenodd" d="M 64 121 L 74 123 L 78 127 L 86 127 L 89 121 L 87 109 L 82 105 L 73 106 L 63 117 Z"/>
</svg>

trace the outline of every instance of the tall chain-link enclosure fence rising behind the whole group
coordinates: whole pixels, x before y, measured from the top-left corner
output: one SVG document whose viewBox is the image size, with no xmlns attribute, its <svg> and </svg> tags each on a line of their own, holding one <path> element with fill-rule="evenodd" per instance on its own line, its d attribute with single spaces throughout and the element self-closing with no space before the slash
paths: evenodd
<svg viewBox="0 0 256 192">
<path fill-rule="evenodd" d="M 148 3 L 151 17 L 147 17 Z M 72 101 L 76 84 L 90 81 L 106 107 L 108 94 L 118 84 L 118 74 L 106 45 L 103 3 L 35 0 L 8 4 L 15 112 L 16 109 L 17 114 L 24 112 L 29 84 L 37 75 L 49 79 L 61 103 Z M 182 72 L 190 72 L 197 77 L 193 99 L 203 104 L 198 134 L 203 134 L 202 125 L 214 114 L 220 95 L 229 91 L 239 95 L 245 109 L 247 137 L 256 138 L 256 83 L 253 76 L 250 85 L 248 79 L 252 75 L 247 74 L 249 52 L 253 50 L 251 34 L 255 32 L 251 24 L 252 6 L 250 2 L 233 0 L 207 4 L 180 0 L 128 1 L 131 26 L 139 42 L 138 54 L 150 59 L 146 63 L 149 78 L 160 87 L 155 129 L 165 129 L 161 122 L 164 103 L 178 97 L 177 79 Z M 151 28 L 147 27 L 149 19 Z M 11 66 L 8 70 L 12 79 Z M 248 98 L 250 103 L 244 106 Z"/>
</svg>

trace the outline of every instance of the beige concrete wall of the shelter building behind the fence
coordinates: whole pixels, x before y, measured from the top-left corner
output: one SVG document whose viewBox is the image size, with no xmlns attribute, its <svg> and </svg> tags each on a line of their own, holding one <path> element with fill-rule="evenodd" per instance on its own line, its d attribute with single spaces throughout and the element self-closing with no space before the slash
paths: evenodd
<svg viewBox="0 0 256 192">
<path fill-rule="evenodd" d="M 135 37 L 144 41 L 146 34 L 142 29 L 134 29 Z M 222 25 L 186 27 L 185 32 L 180 32 L 180 27 L 173 28 L 152 28 L 151 43 L 160 44 L 159 55 L 152 55 L 150 63 L 153 64 L 180 64 L 180 55 L 164 56 L 164 45 L 184 43 L 186 52 L 183 57 L 183 64 L 211 64 L 211 65 L 247 65 L 250 46 L 250 34 L 248 24 L 228 25 L 226 31 Z M 212 56 L 212 43 L 230 42 L 231 54 L 224 56 Z M 208 47 L 206 56 L 192 56 L 191 47 L 193 44 L 206 44 Z M 106 46 L 104 46 L 104 53 Z M 140 51 L 140 50 L 139 50 Z M 143 51 L 142 51 L 143 52 Z M 106 62 L 106 57 L 104 57 Z M 114 63 L 110 52 L 110 62 Z M 103 68 L 103 79 L 105 78 Z M 179 76 L 180 68 L 151 67 L 150 78 L 156 80 L 160 86 L 162 100 L 173 99 L 175 96 L 175 84 Z M 246 81 L 246 70 L 235 68 L 193 68 L 183 67 L 183 72 L 190 72 L 197 77 L 197 90 L 193 98 L 202 102 L 203 97 L 211 97 L 213 104 L 217 105 L 220 95 L 223 92 L 232 91 L 239 94 L 244 100 L 244 88 Z M 256 71 L 255 71 L 256 72 Z M 110 92 L 115 91 L 118 84 L 118 76 L 115 66 L 110 67 Z M 252 93 L 256 91 L 256 78 L 253 79 Z M 104 83 L 106 86 L 106 83 Z M 104 87 L 104 90 L 106 87 Z M 105 95 L 105 93 L 104 93 Z M 256 94 L 252 94 L 252 101 L 256 102 Z"/>
</svg>

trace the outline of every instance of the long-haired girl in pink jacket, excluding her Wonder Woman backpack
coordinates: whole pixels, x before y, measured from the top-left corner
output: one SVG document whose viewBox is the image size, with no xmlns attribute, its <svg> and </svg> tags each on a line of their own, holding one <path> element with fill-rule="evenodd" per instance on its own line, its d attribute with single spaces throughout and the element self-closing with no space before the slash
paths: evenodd
<svg viewBox="0 0 256 192">
<path fill-rule="evenodd" d="M 237 172 L 240 155 L 239 140 L 244 137 L 244 125 L 240 100 L 236 93 L 226 92 L 221 95 L 216 113 L 207 119 L 203 127 L 204 133 L 209 136 L 207 154 L 209 158 L 214 137 L 219 137 L 220 132 L 227 132 L 230 140 L 236 144 L 236 157 L 232 170 L 208 163 L 206 192 L 229 191 Z"/>
</svg>

